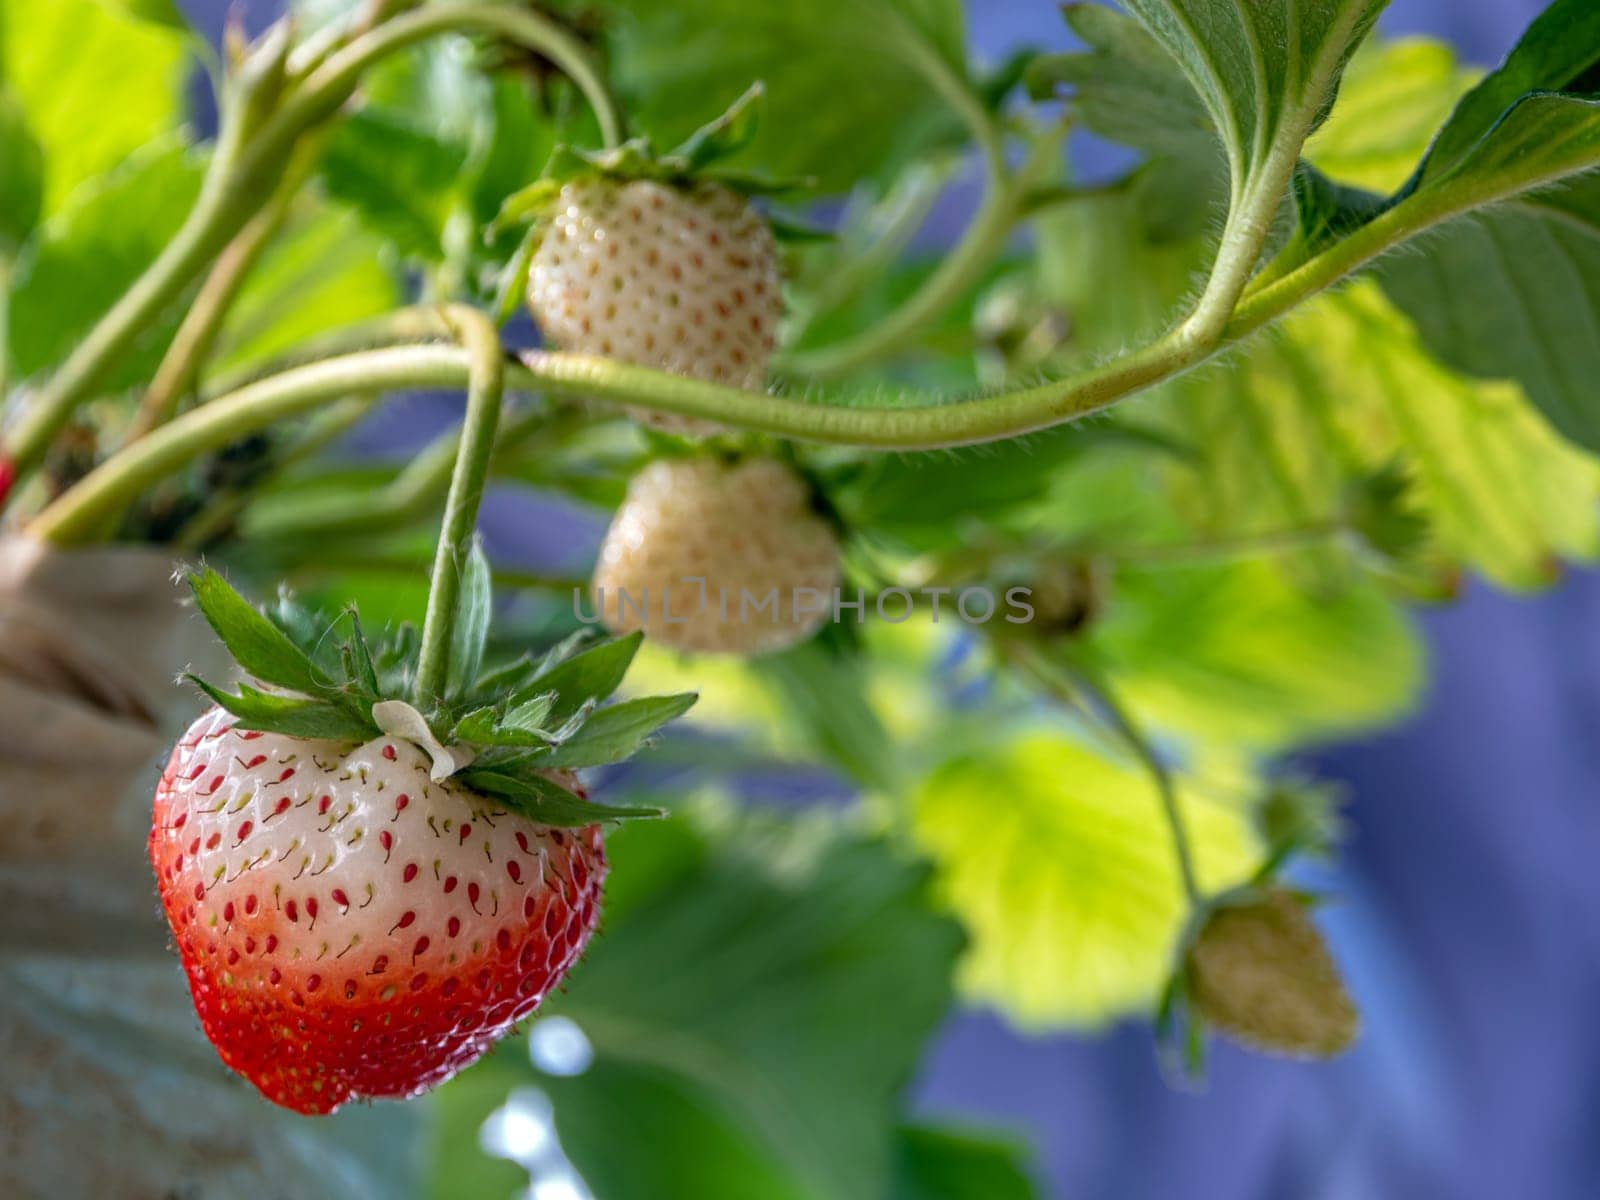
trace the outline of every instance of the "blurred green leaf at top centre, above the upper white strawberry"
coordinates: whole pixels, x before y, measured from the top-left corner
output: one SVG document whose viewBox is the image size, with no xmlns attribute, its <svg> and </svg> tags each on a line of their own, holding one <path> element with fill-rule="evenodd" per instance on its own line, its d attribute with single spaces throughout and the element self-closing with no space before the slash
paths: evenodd
<svg viewBox="0 0 1600 1200">
<path fill-rule="evenodd" d="M 766 112 L 733 166 L 816 178 L 845 192 L 949 136 L 952 117 L 928 70 L 966 80 L 958 0 L 606 0 L 616 77 L 658 146 L 690 138 L 752 83 Z M 926 64 L 926 66 L 918 66 Z M 870 88 L 840 86 L 870 78 Z"/>
</svg>

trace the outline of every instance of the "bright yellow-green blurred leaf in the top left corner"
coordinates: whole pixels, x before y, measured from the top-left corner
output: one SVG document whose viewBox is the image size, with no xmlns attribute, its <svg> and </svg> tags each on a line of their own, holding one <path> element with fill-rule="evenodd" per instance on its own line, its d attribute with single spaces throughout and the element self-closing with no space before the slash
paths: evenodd
<svg viewBox="0 0 1600 1200">
<path fill-rule="evenodd" d="M 98 0 L 5 6 L 0 77 L 45 150 L 46 216 L 85 181 L 179 128 L 186 59 L 178 29 Z"/>
</svg>

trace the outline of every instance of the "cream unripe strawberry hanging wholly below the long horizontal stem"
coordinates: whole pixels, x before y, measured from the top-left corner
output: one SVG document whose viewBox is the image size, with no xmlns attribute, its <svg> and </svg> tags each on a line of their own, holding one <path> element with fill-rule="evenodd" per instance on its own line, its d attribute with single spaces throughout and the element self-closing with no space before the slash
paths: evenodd
<svg viewBox="0 0 1600 1200">
<path fill-rule="evenodd" d="M 792 469 L 662 459 L 629 485 L 592 598 L 613 630 L 750 656 L 811 637 L 832 614 L 838 579 L 838 538 Z"/>
</svg>

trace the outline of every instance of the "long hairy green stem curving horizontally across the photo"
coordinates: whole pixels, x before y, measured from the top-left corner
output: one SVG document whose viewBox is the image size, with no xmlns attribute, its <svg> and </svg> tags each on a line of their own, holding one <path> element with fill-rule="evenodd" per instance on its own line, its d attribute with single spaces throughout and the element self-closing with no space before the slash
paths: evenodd
<svg viewBox="0 0 1600 1200">
<path fill-rule="evenodd" d="M 1248 296 L 1216 342 L 1195 344 L 1168 334 L 1106 365 L 1002 395 L 939 403 L 901 394 L 872 408 L 851 408 L 746 392 L 606 358 L 547 352 L 522 355 L 507 371 L 507 384 L 518 390 L 594 397 L 619 406 L 694 416 L 734 429 L 830 445 L 942 450 L 994 442 L 1098 413 L 1123 397 L 1194 370 L 1406 238 L 1501 198 L 1506 197 L 1458 195 L 1446 203 L 1419 194 Z M 98 523 L 166 474 L 245 434 L 350 394 L 461 387 L 467 374 L 466 355 L 448 346 L 397 346 L 291 368 L 198 408 L 130 446 L 58 499 L 34 528 L 42 538 L 72 544 L 91 536 Z"/>
</svg>

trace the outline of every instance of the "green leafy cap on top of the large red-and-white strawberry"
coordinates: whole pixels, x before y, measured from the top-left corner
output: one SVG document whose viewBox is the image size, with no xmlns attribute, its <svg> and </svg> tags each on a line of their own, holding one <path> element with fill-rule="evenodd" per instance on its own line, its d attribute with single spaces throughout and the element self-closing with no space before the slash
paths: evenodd
<svg viewBox="0 0 1600 1200">
<path fill-rule="evenodd" d="M 243 730 L 349 744 L 382 736 L 413 741 L 445 778 L 539 824 L 659 816 L 654 808 L 597 805 L 552 776 L 630 758 L 696 696 L 602 707 L 621 686 L 638 635 L 595 642 L 586 630 L 542 656 L 482 669 L 488 565 L 477 547 L 472 560 L 454 624 L 450 686 L 432 702 L 413 702 L 419 638 L 411 626 L 373 642 L 354 606 L 326 622 L 286 594 L 262 613 L 213 570 L 195 571 L 187 582 L 248 682 L 226 691 L 187 678 Z"/>
</svg>

